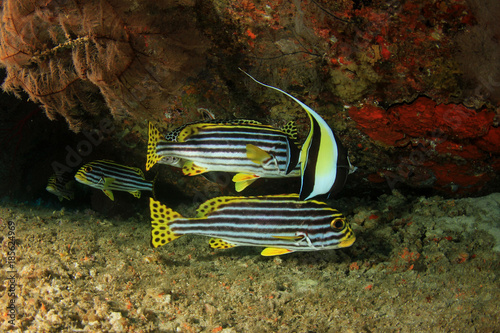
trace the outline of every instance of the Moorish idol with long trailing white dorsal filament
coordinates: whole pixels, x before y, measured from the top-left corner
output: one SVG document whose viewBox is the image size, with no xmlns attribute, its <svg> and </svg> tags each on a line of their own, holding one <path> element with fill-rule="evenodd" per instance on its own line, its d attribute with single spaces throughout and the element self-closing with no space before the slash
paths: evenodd
<svg viewBox="0 0 500 333">
<path fill-rule="evenodd" d="M 351 165 L 347 150 L 340 139 L 321 116 L 292 95 L 276 87 L 252 80 L 264 87 L 277 90 L 299 103 L 306 110 L 311 128 L 300 151 L 301 187 L 300 199 L 308 200 L 318 196 L 335 195 L 345 185 L 347 175 L 355 168 Z"/>
</svg>

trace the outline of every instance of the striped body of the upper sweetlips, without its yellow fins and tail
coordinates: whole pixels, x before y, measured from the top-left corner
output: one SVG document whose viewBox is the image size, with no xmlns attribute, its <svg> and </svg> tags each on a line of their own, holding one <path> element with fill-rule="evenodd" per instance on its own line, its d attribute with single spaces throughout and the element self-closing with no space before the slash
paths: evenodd
<svg viewBox="0 0 500 333">
<path fill-rule="evenodd" d="M 182 142 L 160 140 L 156 145 L 156 154 L 193 161 L 196 166 L 208 171 L 285 177 L 296 169 L 289 176 L 300 175 L 298 148 L 287 134 L 271 126 L 204 123 L 192 124 L 184 130 L 193 134 L 186 136 Z M 247 156 L 248 144 L 271 155 L 271 160 L 262 165 L 252 162 Z"/>
</svg>

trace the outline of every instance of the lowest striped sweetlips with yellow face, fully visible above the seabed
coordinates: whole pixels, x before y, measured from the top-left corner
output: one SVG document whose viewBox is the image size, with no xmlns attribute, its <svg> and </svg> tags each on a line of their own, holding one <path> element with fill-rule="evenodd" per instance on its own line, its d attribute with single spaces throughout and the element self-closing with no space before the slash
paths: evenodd
<svg viewBox="0 0 500 333">
<path fill-rule="evenodd" d="M 216 197 L 186 218 L 150 199 L 151 244 L 165 245 L 182 235 L 212 237 L 216 249 L 262 246 L 263 256 L 351 246 L 356 237 L 345 217 L 323 202 L 300 201 L 298 194 Z"/>
</svg>

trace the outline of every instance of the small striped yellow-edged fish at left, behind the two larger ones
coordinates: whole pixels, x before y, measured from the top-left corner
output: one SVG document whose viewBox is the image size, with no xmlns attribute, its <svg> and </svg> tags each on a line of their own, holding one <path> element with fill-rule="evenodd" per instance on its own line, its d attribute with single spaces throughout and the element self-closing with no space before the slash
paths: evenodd
<svg viewBox="0 0 500 333">
<path fill-rule="evenodd" d="M 114 200 L 113 191 L 129 192 L 136 198 L 141 197 L 141 191 L 153 191 L 153 182 L 144 178 L 141 169 L 110 160 L 85 164 L 78 170 L 75 179 L 82 184 L 102 190 L 111 200 Z"/>
</svg>

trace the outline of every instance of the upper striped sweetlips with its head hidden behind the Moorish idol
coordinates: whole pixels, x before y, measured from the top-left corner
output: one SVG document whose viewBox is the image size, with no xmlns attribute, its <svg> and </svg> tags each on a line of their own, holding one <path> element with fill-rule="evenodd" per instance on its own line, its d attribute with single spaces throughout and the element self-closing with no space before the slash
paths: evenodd
<svg viewBox="0 0 500 333">
<path fill-rule="evenodd" d="M 282 129 L 254 120 L 209 120 L 185 124 L 165 136 L 149 124 L 146 170 L 157 162 L 188 176 L 210 171 L 235 173 L 240 192 L 261 177 L 299 177 L 300 150 L 293 122 Z"/>
</svg>

